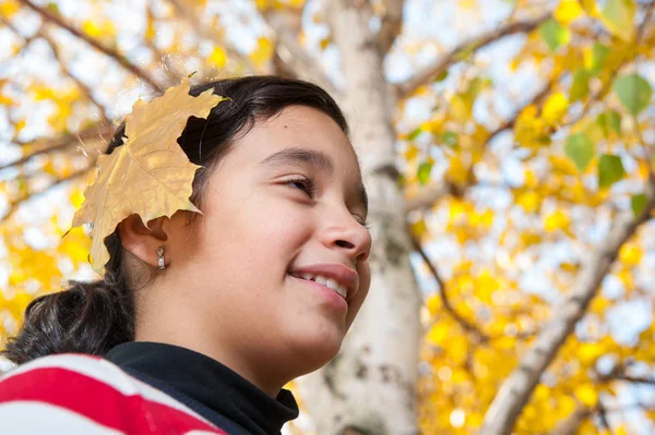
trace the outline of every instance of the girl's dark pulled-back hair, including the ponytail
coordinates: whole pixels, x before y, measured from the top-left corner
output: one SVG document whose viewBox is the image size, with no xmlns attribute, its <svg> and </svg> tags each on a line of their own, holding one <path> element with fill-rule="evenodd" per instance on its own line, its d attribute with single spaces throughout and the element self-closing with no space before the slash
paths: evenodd
<svg viewBox="0 0 655 435">
<path fill-rule="evenodd" d="M 189 118 L 178 138 L 189 160 L 204 168 L 195 171 L 190 200 L 202 209 L 203 193 L 212 170 L 237 135 L 246 134 L 257 120 L 279 113 L 287 106 L 307 106 L 330 116 L 348 135 L 346 120 L 334 99 L 321 87 L 276 76 L 246 76 L 204 83 L 191 87 L 198 96 L 214 88 L 229 97 L 214 107 L 205 119 Z M 122 144 L 124 123 L 105 150 L 110 154 Z M 189 213 L 189 222 L 199 214 Z M 112 347 L 134 339 L 133 277 L 128 274 L 129 254 L 117 231 L 105 239 L 110 259 L 104 279 L 70 280 L 63 291 L 36 298 L 25 310 L 23 326 L 1 352 L 22 364 L 52 353 L 80 352 L 104 355 Z"/>
</svg>

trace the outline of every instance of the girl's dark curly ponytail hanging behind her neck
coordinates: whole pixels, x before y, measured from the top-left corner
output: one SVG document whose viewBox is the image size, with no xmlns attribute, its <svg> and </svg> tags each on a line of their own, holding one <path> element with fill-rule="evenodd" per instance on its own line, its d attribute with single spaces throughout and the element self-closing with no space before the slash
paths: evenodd
<svg viewBox="0 0 655 435">
<path fill-rule="evenodd" d="M 116 233 L 108 239 L 107 244 L 119 251 Z M 8 340 L 0 354 L 23 364 L 53 353 L 104 355 L 112 347 L 132 341 L 134 304 L 122 277 L 120 257 L 118 254 L 110 259 L 104 279 L 69 280 L 67 290 L 32 301 L 19 334 Z"/>
</svg>

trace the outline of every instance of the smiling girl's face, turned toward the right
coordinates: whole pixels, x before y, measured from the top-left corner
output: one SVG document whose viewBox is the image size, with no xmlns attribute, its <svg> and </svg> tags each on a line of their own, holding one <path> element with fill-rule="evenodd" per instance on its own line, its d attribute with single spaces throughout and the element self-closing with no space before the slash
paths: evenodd
<svg viewBox="0 0 655 435">
<path fill-rule="evenodd" d="M 347 137 L 323 112 L 288 107 L 235 143 L 207 188 L 193 245 L 176 247 L 184 254 L 170 268 L 193 292 L 203 339 L 250 376 L 290 379 L 327 363 L 370 285 L 366 193 Z M 346 300 L 302 274 L 336 279 Z"/>
</svg>

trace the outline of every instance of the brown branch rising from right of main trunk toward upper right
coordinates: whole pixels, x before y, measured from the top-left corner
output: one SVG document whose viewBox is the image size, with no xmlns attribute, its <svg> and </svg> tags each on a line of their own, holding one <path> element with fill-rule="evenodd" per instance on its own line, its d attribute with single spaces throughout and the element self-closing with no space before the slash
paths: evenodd
<svg viewBox="0 0 655 435">
<path fill-rule="evenodd" d="M 541 23 L 549 20 L 550 13 L 541 15 L 531 21 L 517 21 L 508 25 L 498 27 L 487 34 L 472 38 L 471 40 L 464 41 L 452 50 L 437 59 L 431 64 L 427 65 L 424 70 L 418 71 L 406 82 L 397 84 L 395 92 L 398 99 L 406 98 L 412 95 L 417 88 L 427 84 L 432 77 L 448 71 L 448 69 L 455 63 L 463 53 L 475 52 L 480 48 L 488 46 L 502 39 L 505 36 L 515 35 L 519 33 L 528 33 L 537 28 Z"/>
</svg>

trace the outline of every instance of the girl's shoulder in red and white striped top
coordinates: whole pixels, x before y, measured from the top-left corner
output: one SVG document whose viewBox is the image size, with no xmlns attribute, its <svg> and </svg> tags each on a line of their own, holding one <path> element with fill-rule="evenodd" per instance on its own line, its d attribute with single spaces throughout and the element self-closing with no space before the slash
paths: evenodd
<svg viewBox="0 0 655 435">
<path fill-rule="evenodd" d="M 63 353 L 0 377 L 0 433 L 226 434 L 98 357 Z"/>
</svg>

